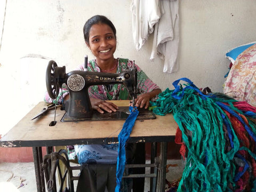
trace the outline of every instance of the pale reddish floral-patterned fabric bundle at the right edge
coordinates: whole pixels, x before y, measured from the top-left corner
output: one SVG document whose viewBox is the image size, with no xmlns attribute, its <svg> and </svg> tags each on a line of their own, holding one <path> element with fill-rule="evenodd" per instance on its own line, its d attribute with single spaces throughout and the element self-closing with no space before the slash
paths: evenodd
<svg viewBox="0 0 256 192">
<path fill-rule="evenodd" d="M 223 93 L 256 107 L 256 44 L 238 55 L 223 87 Z"/>
</svg>

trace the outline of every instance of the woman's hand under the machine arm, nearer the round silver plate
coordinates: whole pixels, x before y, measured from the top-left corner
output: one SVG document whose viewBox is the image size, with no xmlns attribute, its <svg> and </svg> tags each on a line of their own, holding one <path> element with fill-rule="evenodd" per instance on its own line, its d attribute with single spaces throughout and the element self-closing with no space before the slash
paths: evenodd
<svg viewBox="0 0 256 192">
<path fill-rule="evenodd" d="M 90 100 L 92 104 L 92 109 L 97 110 L 101 114 L 104 113 L 104 110 L 108 113 L 112 113 L 113 111 L 116 112 L 116 110 L 118 109 L 118 107 L 114 103 L 108 101 L 103 101 L 96 98 L 90 98 Z"/>
</svg>

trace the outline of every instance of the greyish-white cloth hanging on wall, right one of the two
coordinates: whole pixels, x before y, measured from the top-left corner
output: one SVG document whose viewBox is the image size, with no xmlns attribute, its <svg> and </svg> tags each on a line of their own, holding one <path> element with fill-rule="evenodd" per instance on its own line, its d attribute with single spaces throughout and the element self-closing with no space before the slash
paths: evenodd
<svg viewBox="0 0 256 192">
<path fill-rule="evenodd" d="M 155 25 L 150 60 L 164 60 L 164 73 L 178 71 L 179 49 L 179 0 L 163 0 L 162 14 Z"/>
</svg>

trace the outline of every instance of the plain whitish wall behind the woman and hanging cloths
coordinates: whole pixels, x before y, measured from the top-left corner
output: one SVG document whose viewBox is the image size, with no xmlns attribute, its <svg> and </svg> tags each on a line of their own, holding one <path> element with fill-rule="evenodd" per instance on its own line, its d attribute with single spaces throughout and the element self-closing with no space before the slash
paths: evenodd
<svg viewBox="0 0 256 192">
<path fill-rule="evenodd" d="M 92 15 L 106 15 L 116 26 L 115 57 L 135 60 L 162 90 L 173 89 L 173 81 L 187 77 L 198 87 L 221 92 L 229 66 L 225 52 L 256 40 L 254 0 L 180 0 L 180 69 L 165 74 L 162 60 L 149 60 L 152 36 L 140 51 L 135 50 L 132 0 L 8 0 L 4 26 L 3 2 L 0 134 L 43 100 L 48 59 L 65 65 L 68 72 L 83 63 L 85 54 L 93 58 L 83 39 L 84 22 Z"/>
</svg>

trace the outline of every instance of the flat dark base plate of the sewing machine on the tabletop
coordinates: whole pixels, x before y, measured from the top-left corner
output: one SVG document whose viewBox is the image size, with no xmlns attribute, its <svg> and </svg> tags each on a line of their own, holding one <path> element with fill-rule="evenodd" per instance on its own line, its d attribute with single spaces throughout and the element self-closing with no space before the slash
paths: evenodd
<svg viewBox="0 0 256 192">
<path fill-rule="evenodd" d="M 65 115 L 61 118 L 61 122 L 73 122 L 73 121 L 107 121 L 107 120 L 125 120 L 129 114 L 129 107 L 118 107 L 119 109 L 114 113 L 104 113 L 100 114 L 98 111 L 93 111 L 93 115 L 87 118 L 74 119 L 65 113 Z M 142 121 L 143 119 L 155 119 L 156 116 L 154 113 L 149 111 L 148 109 L 138 108 L 139 115 L 137 116 L 137 120 Z"/>
</svg>

